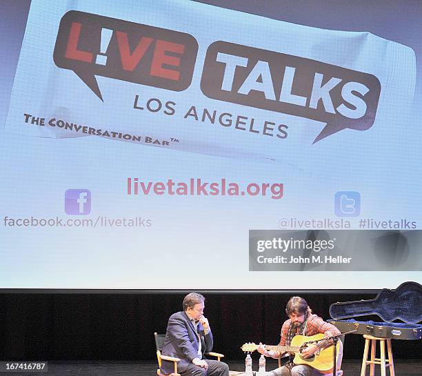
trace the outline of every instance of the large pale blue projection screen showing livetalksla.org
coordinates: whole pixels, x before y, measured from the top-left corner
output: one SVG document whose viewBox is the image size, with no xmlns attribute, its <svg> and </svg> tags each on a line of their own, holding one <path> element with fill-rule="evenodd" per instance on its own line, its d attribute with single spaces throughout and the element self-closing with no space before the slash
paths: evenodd
<svg viewBox="0 0 422 376">
<path fill-rule="evenodd" d="M 0 288 L 421 283 L 421 6 L 19 6 Z"/>
</svg>

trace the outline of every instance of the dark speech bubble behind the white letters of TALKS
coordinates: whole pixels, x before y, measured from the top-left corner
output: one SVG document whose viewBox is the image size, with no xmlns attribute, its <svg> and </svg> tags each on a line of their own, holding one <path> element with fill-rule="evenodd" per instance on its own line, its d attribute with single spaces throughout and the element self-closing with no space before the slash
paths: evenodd
<svg viewBox="0 0 422 376">
<path fill-rule="evenodd" d="M 232 90 L 230 91 L 221 90 L 226 64 L 217 61 L 217 54 L 219 52 L 248 59 L 247 66 L 237 66 L 232 81 Z M 250 72 L 252 72 L 252 69 L 258 61 L 266 62 L 270 67 L 276 100 L 265 98 L 263 92 L 256 90 L 251 90 L 248 95 L 238 92 L 246 77 L 250 75 Z M 292 85 L 292 94 L 307 97 L 306 106 L 299 106 L 297 104 L 285 103 L 278 100 L 281 84 L 283 82 L 283 73 L 285 72 L 286 67 L 293 67 L 296 69 Z M 310 108 L 309 103 L 312 84 L 316 73 L 323 75 L 322 85 L 330 81 L 332 77 L 341 79 L 341 82 L 330 90 L 330 97 L 334 109 L 341 104 L 350 110 L 356 108 L 343 99 L 341 95 L 343 86 L 348 83 L 358 83 L 366 86 L 369 90 L 365 95 L 359 95 L 359 93 L 353 92 L 355 97 L 359 97 L 359 99 L 365 102 L 365 114 L 359 117 L 359 119 L 350 119 L 350 117 L 343 116 L 337 110 L 336 113 L 326 112 L 322 103 L 323 101 L 321 100 L 317 103 L 316 108 Z M 217 41 L 212 43 L 207 50 L 201 79 L 201 90 L 204 95 L 212 99 L 219 99 L 221 101 L 239 103 L 244 106 L 262 108 L 263 110 L 282 112 L 288 115 L 322 121 L 326 123 L 326 125 L 316 139 L 314 139 L 315 143 L 316 141 L 320 141 L 345 128 L 355 130 L 369 129 L 375 120 L 381 92 L 381 83 L 374 75 L 368 73 L 350 70 L 303 57 L 286 55 L 280 52 L 261 50 L 259 48 L 252 48 L 225 41 Z"/>
</svg>

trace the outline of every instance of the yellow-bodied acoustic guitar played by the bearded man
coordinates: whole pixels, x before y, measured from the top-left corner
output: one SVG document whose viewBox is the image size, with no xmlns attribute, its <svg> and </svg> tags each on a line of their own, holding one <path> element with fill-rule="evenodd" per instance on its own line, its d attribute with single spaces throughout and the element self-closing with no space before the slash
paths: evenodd
<svg viewBox="0 0 422 376">
<path fill-rule="evenodd" d="M 332 351 L 333 345 L 327 346 L 321 350 L 317 350 L 312 357 L 305 358 L 301 354 L 302 350 L 312 345 L 309 342 L 312 341 L 321 341 L 324 339 L 323 334 L 316 334 L 310 337 L 305 335 L 296 335 L 292 339 L 290 346 L 270 346 L 265 345 L 267 350 L 276 350 L 280 353 L 294 353 L 294 364 L 306 364 L 316 370 L 319 370 L 320 373 L 332 373 Z M 341 341 L 337 342 L 336 346 L 336 357 L 339 359 L 339 353 L 343 344 Z M 241 349 L 245 353 L 252 353 L 254 350 L 257 350 L 258 345 L 254 343 L 244 344 L 241 346 Z"/>
</svg>

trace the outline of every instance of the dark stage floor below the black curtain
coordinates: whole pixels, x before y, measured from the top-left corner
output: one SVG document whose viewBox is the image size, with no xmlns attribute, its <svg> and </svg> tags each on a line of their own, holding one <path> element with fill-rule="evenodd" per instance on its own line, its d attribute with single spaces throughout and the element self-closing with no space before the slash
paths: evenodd
<svg viewBox="0 0 422 376">
<path fill-rule="evenodd" d="M 227 362 L 230 370 L 244 370 L 243 362 Z M 267 370 L 272 370 L 276 363 L 267 362 Z M 254 364 L 254 370 L 258 364 Z M 344 360 L 341 367 L 344 376 L 360 376 L 361 360 Z M 422 376 L 422 361 L 396 360 L 396 376 Z M 154 362 L 48 362 L 48 372 L 44 373 L 0 373 L 0 376 L 154 376 L 157 375 L 157 363 Z M 369 369 L 367 370 L 367 375 Z M 379 366 L 375 375 L 381 375 Z M 387 370 L 387 375 L 390 375 Z"/>
</svg>

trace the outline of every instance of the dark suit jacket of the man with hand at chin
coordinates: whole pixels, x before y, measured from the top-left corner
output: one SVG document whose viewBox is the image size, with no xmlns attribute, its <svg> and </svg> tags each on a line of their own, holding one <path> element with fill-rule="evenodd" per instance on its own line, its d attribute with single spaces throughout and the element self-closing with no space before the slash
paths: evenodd
<svg viewBox="0 0 422 376">
<path fill-rule="evenodd" d="M 198 335 L 199 333 L 199 335 Z M 201 340 L 201 352 L 208 353 L 212 350 L 214 341 L 211 330 L 205 335 L 203 326 L 198 324 L 198 333 L 194 324 L 190 321 L 184 311 L 174 313 L 168 319 L 167 332 L 163 343 L 163 355 L 178 357 L 177 372 L 181 373 L 192 363 L 192 359 L 199 357 L 199 341 Z M 163 360 L 161 363 L 161 372 L 170 375 L 174 372 L 173 362 Z"/>
</svg>

